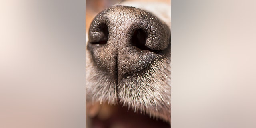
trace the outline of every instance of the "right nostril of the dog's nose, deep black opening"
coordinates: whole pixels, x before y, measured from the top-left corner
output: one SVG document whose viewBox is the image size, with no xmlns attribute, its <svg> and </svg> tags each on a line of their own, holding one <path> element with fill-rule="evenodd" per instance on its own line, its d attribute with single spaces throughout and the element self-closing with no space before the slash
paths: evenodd
<svg viewBox="0 0 256 128">
<path fill-rule="evenodd" d="M 147 37 L 148 35 L 143 30 L 136 30 L 132 35 L 131 44 L 141 50 L 150 50 L 145 46 Z"/>
</svg>

